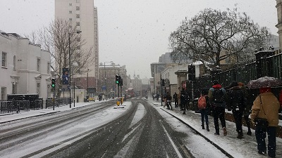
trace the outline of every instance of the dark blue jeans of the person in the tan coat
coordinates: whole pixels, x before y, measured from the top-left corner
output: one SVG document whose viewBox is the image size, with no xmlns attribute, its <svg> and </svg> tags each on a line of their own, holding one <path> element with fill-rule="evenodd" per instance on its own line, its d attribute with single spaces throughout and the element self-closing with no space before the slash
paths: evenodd
<svg viewBox="0 0 282 158">
<path fill-rule="evenodd" d="M 257 150 L 266 152 L 266 132 L 269 140 L 267 146 L 269 157 L 275 157 L 276 154 L 276 126 L 269 126 L 267 128 L 256 127 L 255 136 L 257 139 Z"/>
</svg>

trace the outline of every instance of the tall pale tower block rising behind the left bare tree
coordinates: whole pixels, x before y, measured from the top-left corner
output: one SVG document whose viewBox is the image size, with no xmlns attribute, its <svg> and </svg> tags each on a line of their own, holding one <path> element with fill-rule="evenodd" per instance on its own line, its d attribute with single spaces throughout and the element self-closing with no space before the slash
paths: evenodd
<svg viewBox="0 0 282 158">
<path fill-rule="evenodd" d="M 79 81 L 89 81 L 89 83 L 77 83 L 96 87 L 99 80 L 99 38 L 98 38 L 98 14 L 97 7 L 94 7 L 93 0 L 55 0 L 55 18 L 69 20 L 81 31 L 82 39 L 86 44 L 83 46 L 85 50 L 91 50 L 94 55 L 94 62 L 88 68 L 87 74 L 77 75 L 81 78 Z M 85 79 L 87 77 L 87 79 Z M 83 87 L 82 88 L 87 88 Z"/>
</svg>

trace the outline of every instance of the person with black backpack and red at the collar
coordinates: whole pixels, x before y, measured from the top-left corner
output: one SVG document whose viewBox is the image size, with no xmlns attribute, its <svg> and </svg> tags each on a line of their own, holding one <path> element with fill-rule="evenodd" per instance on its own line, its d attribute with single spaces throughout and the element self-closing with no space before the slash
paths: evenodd
<svg viewBox="0 0 282 158">
<path fill-rule="evenodd" d="M 223 136 L 227 135 L 226 121 L 225 121 L 225 107 L 226 107 L 226 91 L 219 84 L 219 81 L 213 81 L 212 88 L 209 88 L 209 103 L 211 104 L 212 115 L 214 117 L 215 135 L 219 135 L 219 119 L 223 129 Z"/>
</svg>

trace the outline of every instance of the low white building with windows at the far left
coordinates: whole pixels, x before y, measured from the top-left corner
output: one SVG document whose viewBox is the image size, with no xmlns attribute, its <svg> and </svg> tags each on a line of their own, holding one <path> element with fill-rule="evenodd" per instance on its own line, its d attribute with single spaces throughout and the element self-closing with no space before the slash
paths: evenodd
<svg viewBox="0 0 282 158">
<path fill-rule="evenodd" d="M 15 33 L 0 31 L 1 100 L 7 94 L 50 96 L 50 53 Z"/>
</svg>

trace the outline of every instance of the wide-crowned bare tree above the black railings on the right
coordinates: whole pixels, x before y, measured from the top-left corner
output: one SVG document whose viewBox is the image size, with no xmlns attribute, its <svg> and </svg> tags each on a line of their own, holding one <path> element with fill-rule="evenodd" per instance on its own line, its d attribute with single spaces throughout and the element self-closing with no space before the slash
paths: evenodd
<svg viewBox="0 0 282 158">
<path fill-rule="evenodd" d="M 183 20 L 169 40 L 171 57 L 187 55 L 192 60 L 220 66 L 221 60 L 246 62 L 254 58 L 255 49 L 266 46 L 270 32 L 259 28 L 246 13 L 206 8 L 191 20 Z"/>
</svg>

